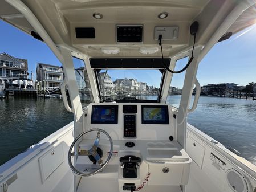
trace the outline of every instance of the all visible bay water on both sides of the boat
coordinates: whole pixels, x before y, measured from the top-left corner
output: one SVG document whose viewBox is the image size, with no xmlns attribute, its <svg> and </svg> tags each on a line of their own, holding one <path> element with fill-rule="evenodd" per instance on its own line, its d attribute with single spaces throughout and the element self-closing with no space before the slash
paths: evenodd
<svg viewBox="0 0 256 192">
<path fill-rule="evenodd" d="M 171 96 L 168 103 L 179 100 Z M 0 100 L 0 165 L 72 120 L 59 99 Z M 188 122 L 256 165 L 256 101 L 202 96 Z"/>
</svg>

